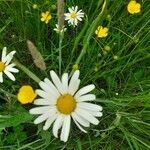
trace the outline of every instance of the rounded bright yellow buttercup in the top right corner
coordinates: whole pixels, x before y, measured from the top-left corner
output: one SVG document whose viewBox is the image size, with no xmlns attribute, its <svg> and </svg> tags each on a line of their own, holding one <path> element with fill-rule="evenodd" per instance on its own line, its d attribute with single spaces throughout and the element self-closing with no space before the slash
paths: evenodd
<svg viewBox="0 0 150 150">
<path fill-rule="evenodd" d="M 131 0 L 127 6 L 127 10 L 130 14 L 136 14 L 141 11 L 141 4 L 137 3 L 135 0 Z"/>
</svg>

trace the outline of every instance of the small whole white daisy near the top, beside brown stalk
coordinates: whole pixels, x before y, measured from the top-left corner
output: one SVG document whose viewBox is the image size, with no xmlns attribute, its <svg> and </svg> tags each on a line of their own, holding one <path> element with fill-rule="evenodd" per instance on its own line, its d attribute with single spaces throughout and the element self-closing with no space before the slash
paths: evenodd
<svg viewBox="0 0 150 150">
<path fill-rule="evenodd" d="M 71 8 L 68 8 L 69 13 L 65 13 L 65 20 L 68 20 L 68 23 L 73 26 L 77 26 L 78 21 L 82 21 L 82 18 L 84 17 L 84 13 L 82 10 L 78 11 L 78 6 L 72 6 Z"/>
</svg>

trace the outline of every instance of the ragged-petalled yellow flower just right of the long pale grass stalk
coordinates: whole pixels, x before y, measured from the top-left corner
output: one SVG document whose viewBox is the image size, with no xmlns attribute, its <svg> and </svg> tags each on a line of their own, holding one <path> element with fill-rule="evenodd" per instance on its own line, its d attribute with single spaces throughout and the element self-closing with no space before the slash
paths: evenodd
<svg viewBox="0 0 150 150">
<path fill-rule="evenodd" d="M 95 31 L 95 34 L 99 38 L 104 38 L 108 35 L 108 28 L 107 27 L 102 27 L 98 26 L 97 30 Z"/>
</svg>

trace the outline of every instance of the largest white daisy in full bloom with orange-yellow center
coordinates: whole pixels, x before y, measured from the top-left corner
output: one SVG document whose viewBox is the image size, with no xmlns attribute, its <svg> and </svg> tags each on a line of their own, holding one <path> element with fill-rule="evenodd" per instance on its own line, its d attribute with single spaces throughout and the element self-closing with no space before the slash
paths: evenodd
<svg viewBox="0 0 150 150">
<path fill-rule="evenodd" d="M 54 71 L 50 71 L 52 82 L 45 78 L 39 83 L 41 89 L 36 90 L 40 96 L 34 101 L 40 107 L 32 108 L 31 114 L 40 115 L 34 120 L 35 124 L 45 122 L 44 130 L 53 124 L 53 134 L 58 138 L 58 130 L 61 129 L 60 139 L 66 142 L 70 132 L 71 119 L 77 127 L 86 133 L 83 127 L 89 127 L 90 123 L 97 125 L 96 117 L 102 116 L 102 107 L 89 103 L 96 96 L 89 94 L 95 86 L 87 85 L 79 89 L 79 70 L 76 70 L 69 80 L 68 73 L 62 75 L 61 80 Z"/>
</svg>

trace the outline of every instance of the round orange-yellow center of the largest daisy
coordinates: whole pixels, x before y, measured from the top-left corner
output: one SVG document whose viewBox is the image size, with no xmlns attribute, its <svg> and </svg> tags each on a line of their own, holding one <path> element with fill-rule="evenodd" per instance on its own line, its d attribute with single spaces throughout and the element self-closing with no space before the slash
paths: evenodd
<svg viewBox="0 0 150 150">
<path fill-rule="evenodd" d="M 58 98 L 56 106 L 61 113 L 71 114 L 76 108 L 76 100 L 70 94 L 65 94 Z"/>
</svg>

